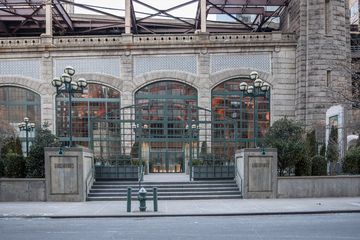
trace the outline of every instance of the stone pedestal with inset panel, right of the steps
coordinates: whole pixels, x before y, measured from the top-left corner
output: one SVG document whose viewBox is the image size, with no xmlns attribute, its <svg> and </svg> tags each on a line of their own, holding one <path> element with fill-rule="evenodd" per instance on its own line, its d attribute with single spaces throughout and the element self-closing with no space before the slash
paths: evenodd
<svg viewBox="0 0 360 240">
<path fill-rule="evenodd" d="M 235 161 L 235 178 L 244 198 L 276 198 L 276 149 L 241 149 Z"/>
</svg>

